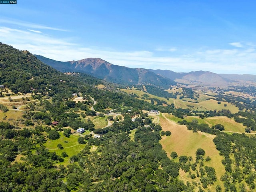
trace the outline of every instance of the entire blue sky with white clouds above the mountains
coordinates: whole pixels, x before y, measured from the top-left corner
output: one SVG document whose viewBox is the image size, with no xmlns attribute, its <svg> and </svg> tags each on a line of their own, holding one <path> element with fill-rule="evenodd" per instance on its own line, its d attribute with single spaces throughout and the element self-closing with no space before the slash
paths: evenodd
<svg viewBox="0 0 256 192">
<path fill-rule="evenodd" d="M 68 61 L 256 74 L 252 0 L 17 0 L 0 5 L 0 42 Z"/>
</svg>

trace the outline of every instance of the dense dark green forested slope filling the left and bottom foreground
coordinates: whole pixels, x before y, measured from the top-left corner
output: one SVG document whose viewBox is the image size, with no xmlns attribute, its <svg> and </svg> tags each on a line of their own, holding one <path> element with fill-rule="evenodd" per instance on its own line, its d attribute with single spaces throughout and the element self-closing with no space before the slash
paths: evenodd
<svg viewBox="0 0 256 192">
<path fill-rule="evenodd" d="M 94 85 L 102 82 L 90 76 L 62 74 L 38 61 L 29 52 L 5 44 L 1 44 L 1 75 L 1 84 L 14 94 L 33 93 L 32 98 L 38 102 L 28 103 L 23 115 L 17 120 L 8 114 L 16 107 L 8 108 L 5 121 L 0 123 L 0 164 L 3 167 L 0 191 L 114 191 L 118 188 L 120 191 L 145 191 L 184 188 L 182 182 L 181 187 L 178 186 L 180 181 L 175 179 L 174 182 L 178 176 L 178 164 L 171 162 L 161 150 L 159 128 L 155 132 L 151 128 L 138 129 L 134 141 L 125 133 L 142 125 L 132 123 L 131 117 L 125 115 L 127 111 L 132 109 L 130 113 L 140 114 L 140 109 L 150 110 L 152 104 L 124 93 L 95 88 Z M 81 94 L 83 102 L 72 100 L 74 92 Z M 2 96 L 7 97 L 6 94 L 9 98 L 16 97 L 2 89 Z M 9 104 L 14 106 L 16 103 L 9 99 Z M 100 139 L 93 139 L 90 135 L 87 138 L 79 137 L 83 138 L 82 141 L 78 138 L 78 142 L 84 149 L 73 156 L 67 157 L 65 152 L 58 154 L 46 149 L 44 143 L 60 138 L 62 132 L 68 140 L 71 132 L 77 128 L 83 127 L 89 132 L 94 130 L 90 117 L 95 116 L 96 112 L 92 106 L 106 114 L 108 109 L 116 109 L 116 112 L 124 115 L 124 120 L 113 124 L 108 134 Z M 6 122 L 6 118 L 10 123 Z M 58 124 L 51 125 L 53 121 Z M 155 125 L 151 126 L 154 128 Z M 90 150 L 92 146 L 97 148 L 95 152 Z M 61 144 L 58 147 L 63 149 Z M 161 155 L 154 160 L 155 157 L 149 153 L 154 154 L 156 151 Z M 152 157 L 149 158 L 149 155 Z M 63 166 L 62 162 L 67 158 L 70 163 Z M 159 166 L 166 171 L 154 173 Z M 159 187 L 156 187 L 157 183 Z"/>
</svg>

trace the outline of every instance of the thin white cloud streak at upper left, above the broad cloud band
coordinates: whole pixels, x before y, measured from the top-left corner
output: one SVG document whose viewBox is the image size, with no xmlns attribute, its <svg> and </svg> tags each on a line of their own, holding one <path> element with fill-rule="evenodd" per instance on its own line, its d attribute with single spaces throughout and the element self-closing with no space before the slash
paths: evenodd
<svg viewBox="0 0 256 192">
<path fill-rule="evenodd" d="M 44 26 L 42 24 L 28 23 L 28 22 L 18 21 L 18 20 L 0 19 L 0 23 L 14 24 L 14 25 L 17 25 L 17 26 L 24 26 L 24 27 L 28 27 L 28 28 L 34 28 L 34 29 L 47 29 L 47 30 L 56 30 L 56 31 L 67 31 L 67 30 L 64 30 L 64 29 Z"/>
</svg>

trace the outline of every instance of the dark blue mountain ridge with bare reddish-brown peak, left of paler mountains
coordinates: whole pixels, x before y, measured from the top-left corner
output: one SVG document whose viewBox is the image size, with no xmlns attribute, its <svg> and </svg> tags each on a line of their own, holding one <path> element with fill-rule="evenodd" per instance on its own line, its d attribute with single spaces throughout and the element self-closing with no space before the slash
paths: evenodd
<svg viewBox="0 0 256 192">
<path fill-rule="evenodd" d="M 36 55 L 36 57 L 61 72 L 84 72 L 98 78 L 122 84 L 147 84 L 168 88 L 176 82 L 143 68 L 128 68 L 106 62 L 100 58 L 59 62 Z"/>
</svg>

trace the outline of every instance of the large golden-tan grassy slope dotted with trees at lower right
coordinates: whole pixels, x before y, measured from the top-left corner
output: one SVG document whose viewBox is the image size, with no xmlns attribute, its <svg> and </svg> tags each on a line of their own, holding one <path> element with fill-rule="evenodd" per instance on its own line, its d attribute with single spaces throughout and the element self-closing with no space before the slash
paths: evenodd
<svg viewBox="0 0 256 192">
<path fill-rule="evenodd" d="M 204 162 L 205 166 L 211 166 L 216 171 L 216 176 L 218 180 L 225 173 L 225 168 L 222 165 L 221 161 L 223 157 L 219 155 L 218 150 L 215 148 L 213 142 L 214 135 L 206 134 L 203 132 L 193 133 L 191 130 L 188 130 L 184 125 L 178 125 L 172 120 L 168 119 L 165 114 L 160 115 L 160 125 L 162 126 L 163 131 L 169 130 L 172 134 L 170 136 L 162 136 L 160 143 L 163 146 L 163 149 L 166 151 L 168 157 L 172 151 L 177 152 L 178 156 L 186 155 L 192 156 L 193 161 L 196 158 L 196 150 L 202 148 L 205 150 L 206 156 L 209 156 L 211 160 L 209 162 Z M 177 160 L 176 160 L 177 161 Z M 185 183 L 186 181 L 195 181 L 199 182 L 199 178 L 191 180 L 188 173 L 180 171 L 180 179 Z M 214 190 L 217 184 L 216 182 L 213 186 L 210 186 L 209 189 Z"/>
</svg>

